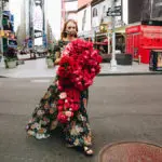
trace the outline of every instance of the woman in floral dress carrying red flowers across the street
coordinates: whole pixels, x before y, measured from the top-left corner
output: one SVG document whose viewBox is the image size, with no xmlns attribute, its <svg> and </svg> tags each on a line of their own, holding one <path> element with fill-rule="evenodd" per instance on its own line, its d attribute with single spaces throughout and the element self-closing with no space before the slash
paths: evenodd
<svg viewBox="0 0 162 162">
<path fill-rule="evenodd" d="M 73 19 L 69 19 L 65 23 L 62 32 L 62 40 L 58 42 L 56 50 L 55 65 L 58 65 L 58 67 L 59 62 L 62 60 L 62 51 L 71 41 L 77 39 L 77 31 L 78 26 Z M 49 86 L 46 93 L 41 98 L 39 106 L 36 107 L 32 118 L 26 126 L 27 134 L 35 136 L 38 139 L 48 138 L 51 135 L 51 131 L 59 125 L 65 135 L 67 147 L 81 148 L 86 156 L 92 156 L 94 153 L 92 149 L 92 133 L 86 112 L 89 92 L 85 90 L 78 94 L 75 91 L 70 92 L 69 89 L 73 98 L 80 98 L 79 110 L 75 113 L 68 111 L 67 116 L 73 116 L 72 120 L 60 123 L 58 121 L 56 104 L 58 104 L 57 98 L 64 98 L 66 94 L 62 93 L 59 96 L 57 95 L 57 81 L 58 78 L 56 77 L 54 83 Z M 62 102 L 62 99 L 59 99 L 59 102 Z"/>
</svg>

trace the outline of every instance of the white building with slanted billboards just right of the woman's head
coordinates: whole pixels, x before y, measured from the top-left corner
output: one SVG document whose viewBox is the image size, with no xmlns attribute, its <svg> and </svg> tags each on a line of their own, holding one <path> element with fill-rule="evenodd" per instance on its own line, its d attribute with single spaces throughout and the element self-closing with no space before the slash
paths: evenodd
<svg viewBox="0 0 162 162">
<path fill-rule="evenodd" d="M 116 0 L 114 5 L 122 10 L 125 0 Z M 79 0 L 78 1 L 78 24 L 79 36 L 83 38 L 95 39 L 98 36 L 107 36 L 108 29 L 111 29 L 111 17 L 107 16 L 107 12 L 111 9 L 110 0 Z M 125 16 L 124 16 L 125 18 Z M 126 23 L 126 21 L 125 21 Z M 116 17 L 116 28 L 122 27 L 124 24 L 123 14 Z"/>
</svg>

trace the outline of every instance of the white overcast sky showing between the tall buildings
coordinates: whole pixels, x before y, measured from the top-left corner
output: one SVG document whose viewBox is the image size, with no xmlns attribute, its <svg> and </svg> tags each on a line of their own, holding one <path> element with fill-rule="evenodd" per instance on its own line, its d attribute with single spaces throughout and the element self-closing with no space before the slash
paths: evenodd
<svg viewBox="0 0 162 162">
<path fill-rule="evenodd" d="M 22 0 L 10 0 L 10 11 L 14 14 L 15 29 L 21 24 Z M 56 38 L 60 35 L 60 0 L 46 0 L 46 15 Z"/>
</svg>

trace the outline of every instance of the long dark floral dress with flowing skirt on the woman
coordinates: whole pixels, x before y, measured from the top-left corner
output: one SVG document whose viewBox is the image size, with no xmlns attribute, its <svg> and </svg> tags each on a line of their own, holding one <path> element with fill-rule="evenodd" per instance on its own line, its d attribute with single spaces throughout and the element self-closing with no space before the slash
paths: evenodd
<svg viewBox="0 0 162 162">
<path fill-rule="evenodd" d="M 67 42 L 60 41 L 56 51 L 62 52 Z M 27 134 L 38 139 L 46 138 L 50 137 L 51 131 L 59 125 L 67 144 L 80 147 L 91 146 L 92 134 L 86 112 L 89 91 L 80 93 L 80 109 L 75 113 L 72 120 L 63 124 L 57 121 L 56 98 L 58 93 L 56 81 L 57 77 L 32 112 L 32 117 L 26 126 Z"/>
</svg>

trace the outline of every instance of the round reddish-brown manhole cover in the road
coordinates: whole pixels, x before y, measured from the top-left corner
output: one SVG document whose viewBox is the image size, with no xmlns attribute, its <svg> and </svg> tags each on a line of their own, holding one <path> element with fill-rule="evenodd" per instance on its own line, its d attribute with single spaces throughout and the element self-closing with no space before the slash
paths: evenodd
<svg viewBox="0 0 162 162">
<path fill-rule="evenodd" d="M 162 148 L 145 143 L 122 143 L 106 146 L 99 162 L 162 162 Z"/>
</svg>

